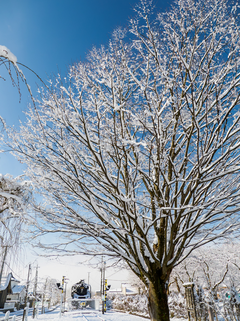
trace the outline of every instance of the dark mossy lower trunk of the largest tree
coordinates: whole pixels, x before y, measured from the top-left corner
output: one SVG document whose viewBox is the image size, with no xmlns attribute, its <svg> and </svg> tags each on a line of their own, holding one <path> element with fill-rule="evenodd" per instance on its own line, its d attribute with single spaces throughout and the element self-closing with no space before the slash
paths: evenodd
<svg viewBox="0 0 240 321">
<path fill-rule="evenodd" d="M 151 321 L 170 321 L 165 282 L 151 280 L 148 290 L 148 311 Z"/>
</svg>

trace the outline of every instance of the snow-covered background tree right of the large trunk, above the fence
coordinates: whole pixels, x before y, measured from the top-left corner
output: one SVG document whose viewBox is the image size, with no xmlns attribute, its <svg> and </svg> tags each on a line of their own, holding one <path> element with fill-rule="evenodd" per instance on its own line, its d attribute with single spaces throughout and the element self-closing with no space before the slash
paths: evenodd
<svg viewBox="0 0 240 321">
<path fill-rule="evenodd" d="M 231 284 L 239 289 L 239 244 L 202 247 L 192 251 L 191 255 L 173 270 L 170 289 L 176 291 L 177 284 L 180 288 L 185 282 L 195 282 L 197 286 L 201 285 L 215 296 L 220 288 L 230 288 Z M 179 288 L 178 291 L 180 291 Z"/>
</svg>

